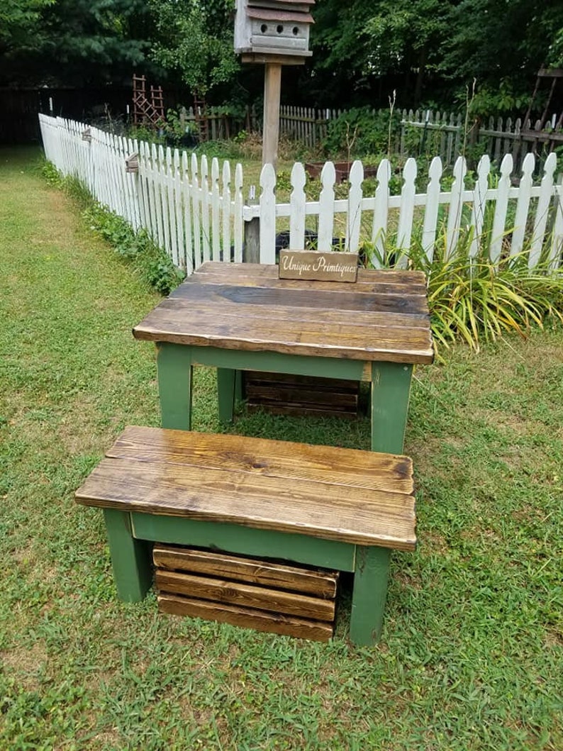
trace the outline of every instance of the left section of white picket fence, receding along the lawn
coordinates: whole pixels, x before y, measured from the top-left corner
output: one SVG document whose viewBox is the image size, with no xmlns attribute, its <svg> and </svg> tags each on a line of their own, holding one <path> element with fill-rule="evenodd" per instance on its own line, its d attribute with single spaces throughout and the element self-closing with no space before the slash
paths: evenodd
<svg viewBox="0 0 563 751">
<path fill-rule="evenodd" d="M 219 173 L 214 158 L 150 146 L 40 115 L 45 155 L 64 175 L 80 179 L 101 204 L 135 230 L 144 228 L 176 266 L 191 273 L 203 261 L 242 261 L 242 167 Z M 137 155 L 138 170 L 126 160 Z"/>
</svg>

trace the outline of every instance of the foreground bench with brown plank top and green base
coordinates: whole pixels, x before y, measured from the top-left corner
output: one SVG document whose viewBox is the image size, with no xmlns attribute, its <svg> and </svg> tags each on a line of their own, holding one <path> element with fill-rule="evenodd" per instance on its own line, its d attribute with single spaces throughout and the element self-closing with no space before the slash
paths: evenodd
<svg viewBox="0 0 563 751">
<path fill-rule="evenodd" d="M 373 644 L 390 550 L 416 544 L 412 493 L 404 456 L 127 427 L 76 500 L 104 509 L 126 602 L 143 599 L 152 585 L 155 542 L 282 559 L 354 572 L 351 640 Z"/>
</svg>

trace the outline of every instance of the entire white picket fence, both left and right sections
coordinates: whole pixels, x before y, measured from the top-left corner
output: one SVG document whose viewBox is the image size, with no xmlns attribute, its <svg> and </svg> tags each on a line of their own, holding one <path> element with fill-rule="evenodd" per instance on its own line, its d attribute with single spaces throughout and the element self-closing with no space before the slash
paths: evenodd
<svg viewBox="0 0 563 751">
<path fill-rule="evenodd" d="M 209 170 L 205 157 L 198 164 L 193 154 L 188 158 L 185 152 L 136 143 L 95 128 L 90 129 L 89 140 L 84 140 L 85 125 L 44 115 L 40 121 L 47 158 L 62 173 L 83 180 L 98 201 L 132 227 L 145 228 L 188 273 L 207 260 L 242 261 L 245 223 L 256 218 L 260 219 L 259 258 L 265 264 L 275 263 L 280 230 L 288 231 L 292 249 L 304 249 L 315 237 L 315 248 L 329 251 L 342 238 L 339 247 L 350 251 L 363 247 L 375 266 L 386 248 L 402 249 L 405 253 L 395 255 L 396 263 L 404 267 L 414 234 L 432 261 L 438 232 L 445 233 L 446 252 L 452 253 L 460 234 L 473 228 L 470 256 L 477 255 L 483 245 L 496 264 L 501 255 L 514 256 L 526 249 L 530 268 L 542 259 L 552 269 L 561 266 L 563 181 L 555 181 L 553 153 L 546 158 L 539 185 L 534 185 L 534 155 L 526 155 L 517 187 L 512 184 L 512 155 L 502 159 L 495 187 L 489 186 L 488 156 L 481 158 L 471 185 L 466 185 L 467 167 L 459 157 L 449 190 L 441 187 L 443 167 L 436 157 L 429 167 L 425 192 L 417 192 L 417 163 L 410 158 L 402 170 L 399 195 L 392 195 L 393 169 L 387 159 L 378 166 L 373 195 L 364 195 L 363 164 L 355 161 L 345 198 L 337 198 L 342 186 L 336 182 L 334 164 L 327 162 L 318 201 L 307 201 L 306 171 L 296 163 L 288 203 L 276 201 L 275 171 L 266 164 L 260 175 L 259 202 L 245 205 L 240 164 L 231 188 L 227 161 L 219 170 L 213 159 Z M 135 152 L 138 172 L 129 173 L 125 160 Z"/>
</svg>

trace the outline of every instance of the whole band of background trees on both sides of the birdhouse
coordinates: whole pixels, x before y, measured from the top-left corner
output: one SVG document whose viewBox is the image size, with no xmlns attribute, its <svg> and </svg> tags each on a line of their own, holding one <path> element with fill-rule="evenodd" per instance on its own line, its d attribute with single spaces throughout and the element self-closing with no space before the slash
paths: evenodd
<svg viewBox="0 0 563 751">
<path fill-rule="evenodd" d="M 0 0 L 0 83 L 125 83 L 136 71 L 215 91 L 217 104 L 243 90 L 255 101 L 262 71 L 233 53 L 234 6 Z M 540 67 L 563 67 L 561 0 L 318 0 L 312 13 L 313 56 L 284 71 L 293 104 L 385 107 L 396 90 L 398 107 L 450 108 L 474 88 L 476 112 L 514 113 Z"/>
</svg>

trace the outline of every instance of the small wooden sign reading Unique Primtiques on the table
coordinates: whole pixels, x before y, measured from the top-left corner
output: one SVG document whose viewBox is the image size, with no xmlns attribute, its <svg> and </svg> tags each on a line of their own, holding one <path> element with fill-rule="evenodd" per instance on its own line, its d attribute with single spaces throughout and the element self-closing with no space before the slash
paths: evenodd
<svg viewBox="0 0 563 751">
<path fill-rule="evenodd" d="M 358 273 L 358 254 L 281 250 L 279 252 L 280 279 L 308 279 L 315 282 L 355 282 Z"/>
</svg>

